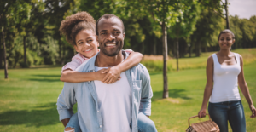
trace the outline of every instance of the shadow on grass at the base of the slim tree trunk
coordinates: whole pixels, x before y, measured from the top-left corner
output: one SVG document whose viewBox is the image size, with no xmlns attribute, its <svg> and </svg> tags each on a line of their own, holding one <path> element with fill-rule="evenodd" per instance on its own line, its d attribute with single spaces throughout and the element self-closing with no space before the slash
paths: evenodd
<svg viewBox="0 0 256 132">
<path fill-rule="evenodd" d="M 170 98 L 181 98 L 183 100 L 191 100 L 190 97 L 185 95 L 185 89 L 169 89 Z M 163 91 L 157 91 L 153 93 L 152 101 L 163 99 Z"/>
</svg>

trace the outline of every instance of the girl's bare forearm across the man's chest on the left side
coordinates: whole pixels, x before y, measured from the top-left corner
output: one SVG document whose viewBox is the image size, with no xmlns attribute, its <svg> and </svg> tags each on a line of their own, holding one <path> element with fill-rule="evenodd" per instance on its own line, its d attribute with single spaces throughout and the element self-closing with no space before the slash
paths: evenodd
<svg viewBox="0 0 256 132">
<path fill-rule="evenodd" d="M 64 70 L 61 73 L 60 80 L 62 82 L 69 82 L 69 83 L 80 83 L 86 81 L 93 81 L 99 80 L 101 81 L 103 77 L 106 76 L 106 73 L 102 73 L 105 69 L 102 69 L 98 72 L 77 72 L 71 69 Z"/>
</svg>

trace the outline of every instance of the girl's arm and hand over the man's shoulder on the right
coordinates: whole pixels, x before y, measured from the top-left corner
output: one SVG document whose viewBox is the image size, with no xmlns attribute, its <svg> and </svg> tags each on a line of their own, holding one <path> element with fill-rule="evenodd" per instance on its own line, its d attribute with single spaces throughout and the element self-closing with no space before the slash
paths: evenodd
<svg viewBox="0 0 256 132">
<path fill-rule="evenodd" d="M 125 50 L 127 52 L 127 50 Z M 128 51 L 130 52 L 130 51 Z M 102 79 L 103 83 L 114 83 L 116 82 L 121 72 L 125 72 L 126 70 L 130 69 L 133 66 L 137 66 L 141 60 L 143 60 L 143 55 L 139 52 L 131 52 L 131 54 L 120 63 L 118 66 L 113 66 L 108 68 L 102 73 L 107 73 L 107 75 Z"/>
</svg>

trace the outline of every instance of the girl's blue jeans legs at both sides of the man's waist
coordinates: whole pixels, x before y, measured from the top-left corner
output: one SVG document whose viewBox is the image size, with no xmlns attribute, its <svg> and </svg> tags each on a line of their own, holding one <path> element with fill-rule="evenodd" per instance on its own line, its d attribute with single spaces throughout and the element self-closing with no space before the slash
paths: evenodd
<svg viewBox="0 0 256 132">
<path fill-rule="evenodd" d="M 143 112 L 138 113 L 138 122 L 137 122 L 138 132 L 157 132 L 154 122 L 143 114 Z M 73 128 L 74 132 L 81 132 L 79 126 L 78 113 L 73 114 L 67 123 L 66 128 Z"/>
</svg>

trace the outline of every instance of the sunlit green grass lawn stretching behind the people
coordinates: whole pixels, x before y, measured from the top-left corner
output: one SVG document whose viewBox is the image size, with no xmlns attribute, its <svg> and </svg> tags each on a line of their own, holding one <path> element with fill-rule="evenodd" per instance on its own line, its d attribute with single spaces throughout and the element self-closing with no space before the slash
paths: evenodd
<svg viewBox="0 0 256 132">
<path fill-rule="evenodd" d="M 256 105 L 255 67 L 256 62 L 251 62 L 244 67 L 254 105 Z M 59 80 L 61 67 L 11 69 L 8 80 L 3 79 L 3 70 L 0 70 L 0 75 L 2 75 L 0 78 L 0 131 L 63 131 L 55 106 L 63 87 L 63 83 Z M 206 83 L 205 69 L 169 72 L 170 98 L 168 99 L 161 98 L 162 73 L 154 72 L 150 76 L 154 92 L 150 118 L 154 120 L 159 132 L 183 132 L 188 127 L 188 118 L 196 115 L 201 108 Z M 245 108 L 247 132 L 255 132 L 256 118 L 249 118 L 251 112 L 243 95 L 241 100 Z M 199 120 L 192 119 L 192 123 L 195 122 Z"/>
</svg>

